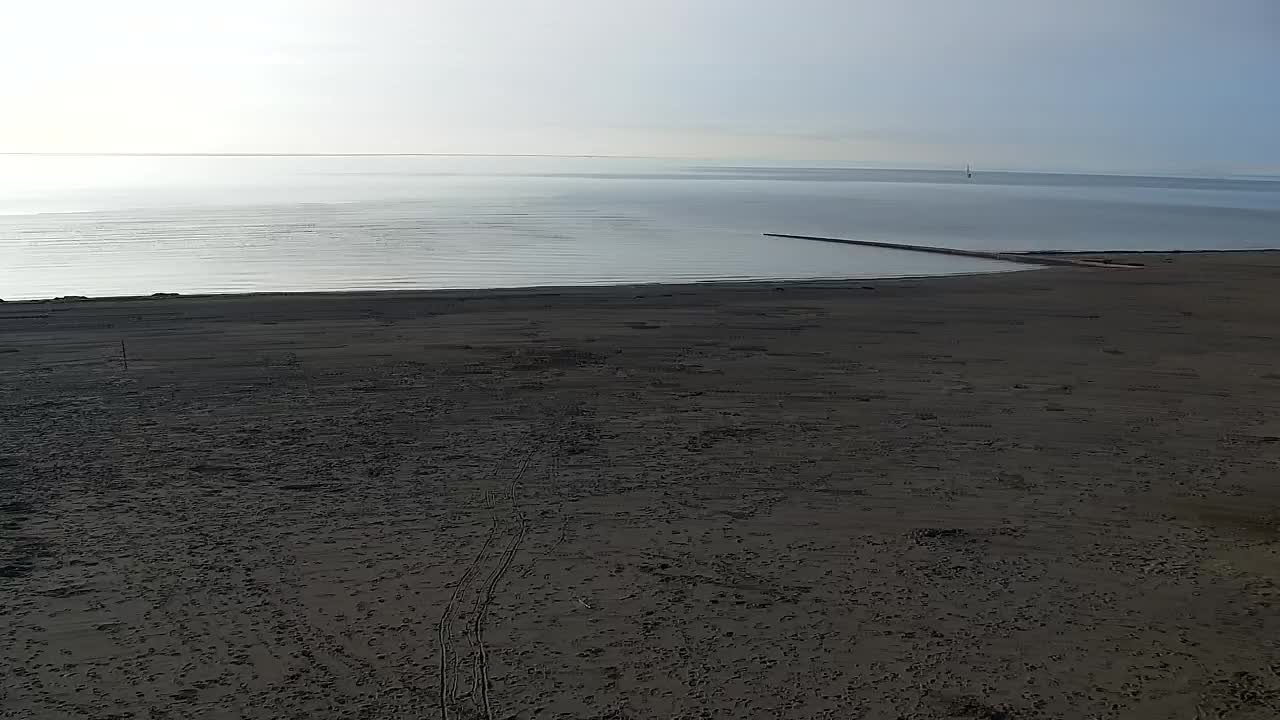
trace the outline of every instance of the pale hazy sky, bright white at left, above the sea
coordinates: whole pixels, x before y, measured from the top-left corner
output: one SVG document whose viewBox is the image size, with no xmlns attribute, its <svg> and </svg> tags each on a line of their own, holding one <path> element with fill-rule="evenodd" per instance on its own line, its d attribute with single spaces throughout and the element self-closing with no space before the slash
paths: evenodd
<svg viewBox="0 0 1280 720">
<path fill-rule="evenodd" d="M 1280 0 L 0 0 L 0 151 L 1280 174 Z"/>
</svg>

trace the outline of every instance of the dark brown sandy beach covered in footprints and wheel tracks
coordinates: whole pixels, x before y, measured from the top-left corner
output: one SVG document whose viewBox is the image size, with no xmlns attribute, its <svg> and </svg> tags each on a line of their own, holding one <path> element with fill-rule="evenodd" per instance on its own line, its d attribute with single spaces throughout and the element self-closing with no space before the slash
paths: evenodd
<svg viewBox="0 0 1280 720">
<path fill-rule="evenodd" d="M 0 304 L 0 717 L 1275 719 L 1280 252 L 1138 261 Z"/>
</svg>

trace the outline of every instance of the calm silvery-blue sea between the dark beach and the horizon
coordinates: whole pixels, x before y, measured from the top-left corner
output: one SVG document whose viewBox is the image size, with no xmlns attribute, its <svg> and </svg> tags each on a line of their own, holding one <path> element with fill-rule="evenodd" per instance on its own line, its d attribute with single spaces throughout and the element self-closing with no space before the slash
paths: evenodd
<svg viewBox="0 0 1280 720">
<path fill-rule="evenodd" d="M 1280 181 L 571 158 L 0 156 L 0 297 L 861 278 L 1280 246 Z"/>
</svg>

